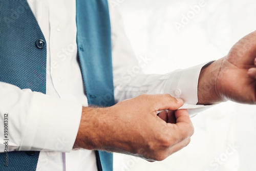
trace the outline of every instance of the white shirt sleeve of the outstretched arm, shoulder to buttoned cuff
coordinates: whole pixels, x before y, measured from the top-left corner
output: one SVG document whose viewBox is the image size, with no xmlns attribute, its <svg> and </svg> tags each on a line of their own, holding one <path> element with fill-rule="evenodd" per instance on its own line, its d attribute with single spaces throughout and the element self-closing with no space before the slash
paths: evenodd
<svg viewBox="0 0 256 171">
<path fill-rule="evenodd" d="M 185 104 L 180 109 L 189 109 L 190 116 L 211 105 L 196 105 L 200 71 L 206 63 L 164 75 L 144 74 L 143 65 L 151 59 L 147 56 L 136 58 L 127 39 L 122 18 L 117 8 L 110 8 L 112 28 L 113 75 L 116 102 L 140 94 L 170 94 L 182 98 Z"/>
</svg>

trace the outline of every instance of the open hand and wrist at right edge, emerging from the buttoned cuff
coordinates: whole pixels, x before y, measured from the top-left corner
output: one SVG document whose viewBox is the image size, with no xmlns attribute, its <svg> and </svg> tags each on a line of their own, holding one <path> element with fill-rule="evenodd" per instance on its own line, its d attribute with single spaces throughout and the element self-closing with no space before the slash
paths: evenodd
<svg viewBox="0 0 256 171">
<path fill-rule="evenodd" d="M 228 55 L 204 68 L 199 77 L 198 104 L 232 100 L 256 103 L 256 31 L 235 44 Z"/>
</svg>

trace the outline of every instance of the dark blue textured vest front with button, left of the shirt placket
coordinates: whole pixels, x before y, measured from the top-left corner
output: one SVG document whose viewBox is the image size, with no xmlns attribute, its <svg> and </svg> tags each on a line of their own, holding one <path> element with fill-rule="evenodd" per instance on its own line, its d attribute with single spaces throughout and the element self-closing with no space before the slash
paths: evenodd
<svg viewBox="0 0 256 171">
<path fill-rule="evenodd" d="M 0 0 L 0 81 L 46 93 L 47 52 L 37 40 L 46 42 L 27 1 Z M 39 152 L 7 154 L 8 167 L 1 162 L 0 170 L 36 169 Z M 5 155 L 0 153 L 1 161 Z"/>
</svg>

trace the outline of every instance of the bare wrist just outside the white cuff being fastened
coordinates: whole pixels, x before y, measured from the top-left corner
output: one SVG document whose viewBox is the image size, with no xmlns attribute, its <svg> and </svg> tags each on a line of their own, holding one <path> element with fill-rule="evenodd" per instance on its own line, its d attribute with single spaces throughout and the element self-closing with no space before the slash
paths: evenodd
<svg viewBox="0 0 256 171">
<path fill-rule="evenodd" d="M 214 104 L 225 101 L 219 87 L 219 75 L 223 58 L 202 68 L 198 80 L 198 103 Z"/>
</svg>

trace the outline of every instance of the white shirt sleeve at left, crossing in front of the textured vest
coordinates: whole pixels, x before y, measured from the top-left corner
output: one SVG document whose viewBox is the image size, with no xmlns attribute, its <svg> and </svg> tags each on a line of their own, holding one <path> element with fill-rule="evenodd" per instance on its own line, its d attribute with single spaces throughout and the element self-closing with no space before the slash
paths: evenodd
<svg viewBox="0 0 256 171">
<path fill-rule="evenodd" d="M 79 103 L 0 82 L 0 122 L 8 114 L 8 151 L 70 152 L 81 111 Z M 7 139 L 4 129 L 0 138 Z M 3 147 L 1 143 L 0 153 Z"/>
</svg>

